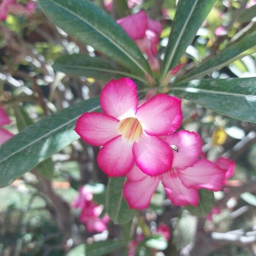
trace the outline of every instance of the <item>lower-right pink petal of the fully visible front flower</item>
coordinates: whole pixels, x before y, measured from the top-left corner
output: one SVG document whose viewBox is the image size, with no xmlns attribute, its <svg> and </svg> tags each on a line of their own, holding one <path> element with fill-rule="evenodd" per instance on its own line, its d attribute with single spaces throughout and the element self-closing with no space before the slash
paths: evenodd
<svg viewBox="0 0 256 256">
<path fill-rule="evenodd" d="M 172 149 L 159 137 L 143 134 L 132 150 L 137 166 L 147 175 L 160 175 L 172 167 Z"/>
</svg>

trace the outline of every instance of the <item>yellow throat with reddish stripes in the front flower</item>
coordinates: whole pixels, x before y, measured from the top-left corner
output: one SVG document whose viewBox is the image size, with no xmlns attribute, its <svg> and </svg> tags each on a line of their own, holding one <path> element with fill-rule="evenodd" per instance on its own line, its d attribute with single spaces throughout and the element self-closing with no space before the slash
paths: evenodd
<svg viewBox="0 0 256 256">
<path fill-rule="evenodd" d="M 118 131 L 119 134 L 122 135 L 122 138 L 128 140 L 129 142 L 139 140 L 142 135 L 142 127 L 140 122 L 133 117 L 121 120 L 118 124 Z"/>
</svg>

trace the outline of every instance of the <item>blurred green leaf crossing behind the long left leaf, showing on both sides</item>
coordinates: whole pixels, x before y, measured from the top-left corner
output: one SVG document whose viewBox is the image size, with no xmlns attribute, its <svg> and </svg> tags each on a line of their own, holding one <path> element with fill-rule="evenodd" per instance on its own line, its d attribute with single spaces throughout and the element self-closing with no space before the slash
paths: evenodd
<svg viewBox="0 0 256 256">
<path fill-rule="evenodd" d="M 13 106 L 14 114 L 17 122 L 17 127 L 19 131 L 22 131 L 29 125 L 32 125 L 33 119 L 29 117 L 29 114 L 23 108 L 22 106 Z M 54 163 L 52 162 L 51 158 L 48 158 L 47 160 L 43 161 L 42 163 L 39 163 L 38 166 L 35 167 L 35 169 L 41 173 L 44 177 L 47 177 L 49 179 L 52 179 L 54 177 Z"/>
</svg>

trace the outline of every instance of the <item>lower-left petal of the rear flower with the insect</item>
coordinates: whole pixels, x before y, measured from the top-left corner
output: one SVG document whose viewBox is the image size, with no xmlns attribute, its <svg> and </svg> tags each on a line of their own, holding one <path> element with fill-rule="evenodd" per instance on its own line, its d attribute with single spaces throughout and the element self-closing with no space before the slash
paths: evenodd
<svg viewBox="0 0 256 256">
<path fill-rule="evenodd" d="M 150 200 L 157 189 L 160 177 L 147 176 L 140 181 L 127 181 L 123 188 L 124 197 L 130 208 L 148 208 Z"/>
</svg>

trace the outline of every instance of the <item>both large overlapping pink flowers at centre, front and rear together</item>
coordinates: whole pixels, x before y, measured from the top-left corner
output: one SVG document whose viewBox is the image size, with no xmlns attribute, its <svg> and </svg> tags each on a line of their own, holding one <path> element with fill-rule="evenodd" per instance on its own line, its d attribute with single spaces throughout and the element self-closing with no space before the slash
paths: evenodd
<svg viewBox="0 0 256 256">
<path fill-rule="evenodd" d="M 144 209 L 162 182 L 173 204 L 198 205 L 198 189 L 218 191 L 227 166 L 201 159 L 201 137 L 178 131 L 181 101 L 166 94 L 139 102 L 131 79 L 111 80 L 100 94 L 104 113 L 84 113 L 75 131 L 102 146 L 99 167 L 108 176 L 126 175 L 124 196 L 131 208 Z"/>
</svg>

